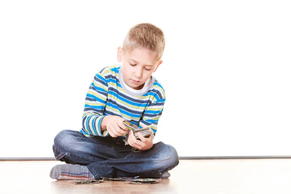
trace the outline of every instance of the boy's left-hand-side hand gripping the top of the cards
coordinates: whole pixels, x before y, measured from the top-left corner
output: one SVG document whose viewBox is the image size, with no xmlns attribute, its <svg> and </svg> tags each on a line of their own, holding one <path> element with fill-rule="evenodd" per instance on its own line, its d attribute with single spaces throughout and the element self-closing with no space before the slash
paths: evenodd
<svg viewBox="0 0 291 194">
<path fill-rule="evenodd" d="M 120 116 L 105 116 L 101 122 L 101 130 L 107 129 L 111 137 L 127 134 L 128 128 L 124 125 L 123 121 L 124 119 Z"/>
</svg>

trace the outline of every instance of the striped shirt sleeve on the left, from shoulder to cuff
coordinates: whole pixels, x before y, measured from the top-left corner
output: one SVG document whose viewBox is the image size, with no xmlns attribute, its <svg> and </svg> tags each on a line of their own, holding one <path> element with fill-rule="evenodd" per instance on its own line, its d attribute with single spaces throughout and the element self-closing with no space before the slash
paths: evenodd
<svg viewBox="0 0 291 194">
<path fill-rule="evenodd" d="M 104 108 L 108 96 L 108 84 L 105 77 L 98 73 L 90 84 L 82 116 L 82 130 L 89 135 L 108 136 L 108 131 L 101 131 Z"/>
</svg>

